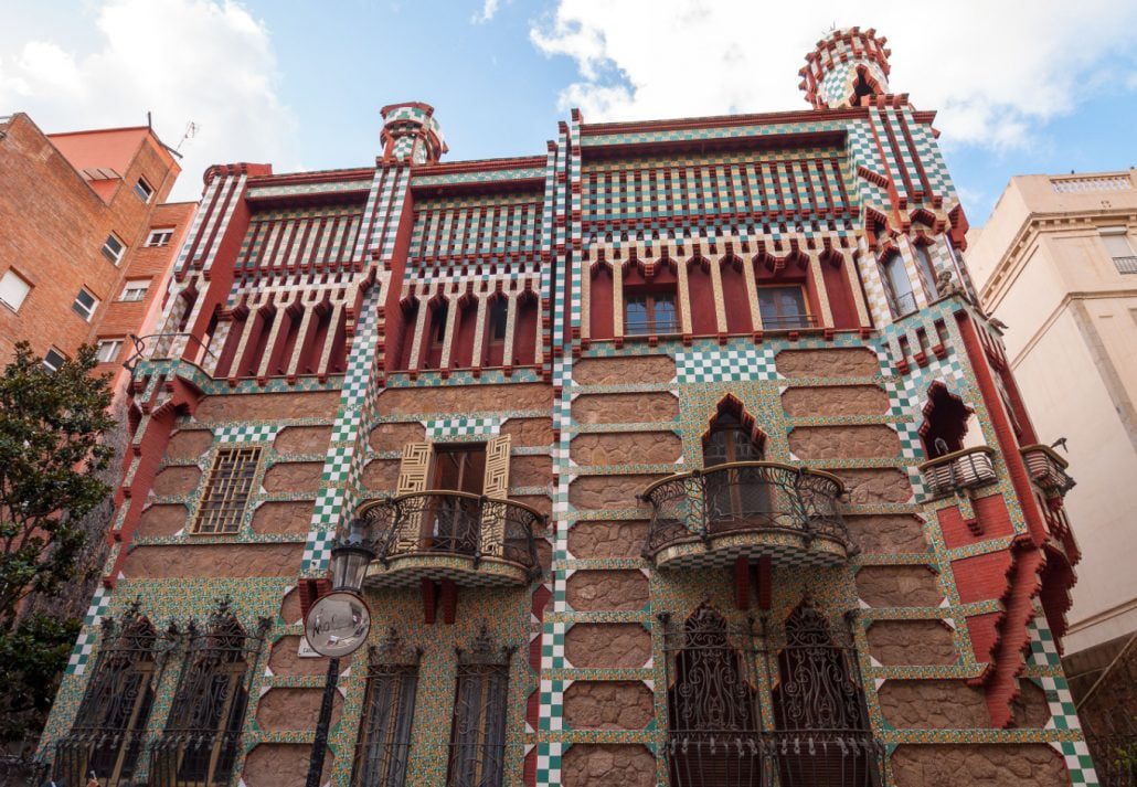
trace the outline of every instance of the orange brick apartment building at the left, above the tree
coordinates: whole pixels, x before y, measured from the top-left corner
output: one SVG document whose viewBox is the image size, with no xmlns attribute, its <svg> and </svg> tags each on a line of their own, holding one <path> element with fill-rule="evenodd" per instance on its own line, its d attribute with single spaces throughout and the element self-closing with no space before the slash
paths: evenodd
<svg viewBox="0 0 1137 787">
<path fill-rule="evenodd" d="M 152 331 L 194 204 L 163 204 L 181 167 L 147 126 L 44 134 L 0 119 L 0 362 L 27 340 L 49 366 L 99 347 L 116 394 L 130 334 Z"/>
</svg>

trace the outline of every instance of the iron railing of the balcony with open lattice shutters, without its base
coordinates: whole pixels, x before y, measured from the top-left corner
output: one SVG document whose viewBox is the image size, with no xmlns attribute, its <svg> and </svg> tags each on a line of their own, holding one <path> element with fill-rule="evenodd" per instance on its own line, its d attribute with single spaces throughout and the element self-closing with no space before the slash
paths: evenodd
<svg viewBox="0 0 1137 787">
<path fill-rule="evenodd" d="M 532 577 L 540 573 L 534 531 L 545 516 L 513 500 L 462 491 L 431 490 L 392 497 L 371 506 L 376 525 L 376 557 L 389 566 L 409 555 L 485 557 L 516 563 Z"/>
</svg>

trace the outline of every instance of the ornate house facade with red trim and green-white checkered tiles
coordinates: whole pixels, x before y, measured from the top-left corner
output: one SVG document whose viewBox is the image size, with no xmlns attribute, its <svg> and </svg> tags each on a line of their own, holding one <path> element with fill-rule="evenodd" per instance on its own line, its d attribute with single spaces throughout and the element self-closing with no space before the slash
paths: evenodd
<svg viewBox="0 0 1137 787">
<path fill-rule="evenodd" d="M 359 519 L 371 647 L 321 781 L 1098 784 L 1067 477 L 1028 470 L 885 44 L 820 41 L 803 111 L 573 113 L 543 155 L 447 163 L 398 103 L 374 166 L 213 167 L 57 774 L 302 784 L 301 620 Z"/>
</svg>

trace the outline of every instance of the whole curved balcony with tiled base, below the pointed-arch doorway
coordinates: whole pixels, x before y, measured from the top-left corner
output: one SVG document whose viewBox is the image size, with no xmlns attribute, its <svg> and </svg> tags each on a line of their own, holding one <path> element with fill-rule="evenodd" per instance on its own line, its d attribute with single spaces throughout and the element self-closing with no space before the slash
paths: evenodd
<svg viewBox="0 0 1137 787">
<path fill-rule="evenodd" d="M 732 462 L 669 475 L 652 504 L 644 556 L 657 568 L 711 568 L 769 555 L 774 565 L 836 565 L 856 553 L 840 479 L 777 462 Z"/>
</svg>

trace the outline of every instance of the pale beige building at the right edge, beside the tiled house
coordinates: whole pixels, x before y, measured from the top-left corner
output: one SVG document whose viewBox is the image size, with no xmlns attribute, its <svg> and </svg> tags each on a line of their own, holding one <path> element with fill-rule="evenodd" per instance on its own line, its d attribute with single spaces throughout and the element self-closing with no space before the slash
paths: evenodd
<svg viewBox="0 0 1137 787">
<path fill-rule="evenodd" d="M 1095 732 L 1137 732 L 1137 173 L 1012 177 L 970 238 L 1028 409 L 1078 469 L 1076 698 Z"/>
</svg>

